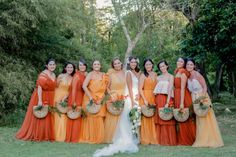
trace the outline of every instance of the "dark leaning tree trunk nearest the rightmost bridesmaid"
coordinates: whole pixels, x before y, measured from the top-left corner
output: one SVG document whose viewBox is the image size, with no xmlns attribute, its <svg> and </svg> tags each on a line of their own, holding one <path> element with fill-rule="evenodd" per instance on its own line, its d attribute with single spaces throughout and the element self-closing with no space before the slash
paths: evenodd
<svg viewBox="0 0 236 157">
<path fill-rule="evenodd" d="M 223 68 L 224 68 L 224 64 L 218 64 L 216 67 L 216 77 L 215 77 L 214 92 L 213 92 L 214 98 L 219 97 L 220 83 L 221 83 L 221 78 L 223 74 Z"/>
</svg>

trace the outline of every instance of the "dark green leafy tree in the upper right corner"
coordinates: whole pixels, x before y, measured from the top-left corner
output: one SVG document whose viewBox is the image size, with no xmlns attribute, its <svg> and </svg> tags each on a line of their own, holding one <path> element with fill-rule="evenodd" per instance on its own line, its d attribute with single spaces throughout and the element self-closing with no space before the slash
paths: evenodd
<svg viewBox="0 0 236 157">
<path fill-rule="evenodd" d="M 223 7 L 222 7 L 223 6 Z M 234 15 L 234 16 L 232 16 Z M 234 78 L 236 50 L 236 3 L 230 0 L 204 1 L 199 18 L 192 27 L 187 27 L 182 42 L 182 51 L 210 64 L 208 56 L 218 60 L 215 66 L 214 97 L 218 97 L 223 72 L 226 67 Z M 235 85 L 232 84 L 234 87 Z M 235 87 L 234 87 L 235 88 Z M 235 90 L 234 90 L 235 91 Z"/>
</svg>

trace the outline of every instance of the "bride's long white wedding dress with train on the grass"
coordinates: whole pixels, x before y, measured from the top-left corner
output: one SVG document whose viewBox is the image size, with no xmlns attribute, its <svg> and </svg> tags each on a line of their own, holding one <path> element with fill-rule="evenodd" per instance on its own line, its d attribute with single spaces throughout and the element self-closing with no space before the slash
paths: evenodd
<svg viewBox="0 0 236 157">
<path fill-rule="evenodd" d="M 131 73 L 132 76 L 132 91 L 133 98 L 135 98 L 138 94 L 138 79 L 131 71 L 127 71 L 127 73 Z M 125 89 L 125 95 L 129 95 L 127 85 Z M 137 101 L 135 101 L 135 103 L 138 104 Z M 93 157 L 111 156 L 119 152 L 138 152 L 139 140 L 132 134 L 132 124 L 129 120 L 129 112 L 131 109 L 131 99 L 130 97 L 127 97 L 125 99 L 124 110 L 120 115 L 120 120 L 118 122 L 116 132 L 112 140 L 113 143 L 108 145 L 107 147 L 96 150 L 96 152 L 93 154 Z"/>
</svg>

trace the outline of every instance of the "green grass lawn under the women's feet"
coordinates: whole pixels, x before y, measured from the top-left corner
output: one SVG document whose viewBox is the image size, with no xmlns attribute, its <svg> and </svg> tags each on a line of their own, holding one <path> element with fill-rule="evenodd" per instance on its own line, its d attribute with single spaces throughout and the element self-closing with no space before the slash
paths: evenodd
<svg viewBox="0 0 236 157">
<path fill-rule="evenodd" d="M 231 103 L 232 106 L 232 103 Z M 235 104 L 233 105 L 235 106 Z M 236 112 L 224 113 L 215 106 L 217 119 L 224 139 L 222 148 L 192 148 L 143 146 L 135 154 L 117 154 L 115 157 L 236 157 Z M 235 106 L 236 107 L 236 106 Z M 223 111 L 223 110 L 221 110 Z M 0 157 L 89 157 L 105 145 L 70 144 L 58 142 L 25 142 L 14 138 L 18 127 L 0 127 Z"/>
</svg>

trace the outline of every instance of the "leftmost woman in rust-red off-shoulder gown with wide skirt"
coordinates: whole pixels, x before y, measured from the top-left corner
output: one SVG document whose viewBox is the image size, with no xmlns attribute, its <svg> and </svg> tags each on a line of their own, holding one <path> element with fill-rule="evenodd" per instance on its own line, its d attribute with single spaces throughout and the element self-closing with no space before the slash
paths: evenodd
<svg viewBox="0 0 236 157">
<path fill-rule="evenodd" d="M 54 129 L 51 113 L 46 118 L 38 119 L 33 115 L 33 106 L 53 105 L 56 88 L 56 69 L 54 59 L 46 62 L 46 69 L 42 71 L 36 83 L 36 88 L 31 96 L 24 122 L 16 134 L 17 139 L 32 141 L 53 141 Z"/>
</svg>

